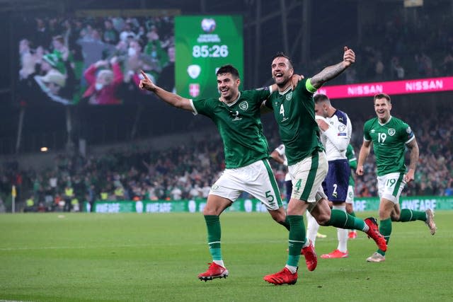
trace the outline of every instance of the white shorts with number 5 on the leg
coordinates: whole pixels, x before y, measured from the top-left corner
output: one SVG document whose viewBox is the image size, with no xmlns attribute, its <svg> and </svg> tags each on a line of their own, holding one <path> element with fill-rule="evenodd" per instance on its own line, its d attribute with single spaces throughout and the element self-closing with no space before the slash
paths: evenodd
<svg viewBox="0 0 453 302">
<path fill-rule="evenodd" d="M 225 169 L 210 190 L 210 194 L 231 202 L 235 202 L 242 192 L 259 199 L 268 210 L 277 210 L 283 206 L 277 181 L 267 159 L 241 168 Z"/>
</svg>

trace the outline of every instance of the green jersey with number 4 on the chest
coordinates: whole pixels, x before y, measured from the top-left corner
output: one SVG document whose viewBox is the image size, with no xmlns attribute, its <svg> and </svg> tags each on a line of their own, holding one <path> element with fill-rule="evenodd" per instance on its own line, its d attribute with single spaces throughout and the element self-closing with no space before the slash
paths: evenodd
<svg viewBox="0 0 453 302">
<path fill-rule="evenodd" d="M 287 91 L 273 92 L 265 103 L 274 110 L 288 165 L 302 161 L 314 151 L 323 150 L 319 127 L 314 120 L 315 92 L 316 88 L 311 86 L 310 79 L 304 79 L 294 91 L 288 88 Z"/>
</svg>

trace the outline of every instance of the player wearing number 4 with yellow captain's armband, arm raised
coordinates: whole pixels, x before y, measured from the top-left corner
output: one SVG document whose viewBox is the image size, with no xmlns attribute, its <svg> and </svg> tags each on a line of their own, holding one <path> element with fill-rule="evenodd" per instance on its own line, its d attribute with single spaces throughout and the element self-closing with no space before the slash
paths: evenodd
<svg viewBox="0 0 453 302">
<path fill-rule="evenodd" d="M 306 239 L 303 221 L 306 209 L 309 209 L 321 226 L 359 229 L 372 237 L 379 248 L 386 249 L 385 240 L 379 234 L 375 219 L 363 221 L 348 215 L 345 211 L 331 210 L 321 187 L 321 182 L 327 175 L 328 163 L 319 140 L 313 95 L 323 83 L 341 74 L 354 62 L 355 53 L 345 47 L 342 62 L 326 67 L 311 79 L 300 81 L 292 91 L 289 79 L 294 74 L 294 69 L 289 57 L 279 53 L 273 59 L 272 76 L 278 91 L 272 93 L 264 105 L 273 110 L 280 139 L 285 144 L 288 171 L 292 179 L 292 195 L 287 208 L 290 225 L 287 264 L 280 272 L 264 277 L 269 283 L 297 282 L 301 250 L 308 269 L 316 268 L 316 252 L 311 241 Z"/>
</svg>

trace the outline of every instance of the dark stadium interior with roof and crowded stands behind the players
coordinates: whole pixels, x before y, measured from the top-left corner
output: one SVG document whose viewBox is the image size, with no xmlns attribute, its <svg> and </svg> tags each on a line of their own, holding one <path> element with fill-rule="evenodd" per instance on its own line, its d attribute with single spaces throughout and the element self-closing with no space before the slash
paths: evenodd
<svg viewBox="0 0 453 302">
<path fill-rule="evenodd" d="M 24 87 L 18 79 L 18 45 L 21 39 L 33 37 L 37 18 L 48 26 L 52 19 L 62 25 L 75 18 L 77 11 L 99 9 L 241 15 L 243 89 L 271 83 L 265 62 L 270 62 L 277 51 L 292 57 L 297 73 L 310 76 L 338 62 L 344 45 L 355 50 L 357 62 L 329 85 L 453 76 L 452 1 L 423 1 L 423 6 L 415 7 L 405 7 L 403 1 L 277 3 L 0 1 L 0 24 L 4 28 L 4 41 L 0 43 L 2 209 L 11 211 L 12 185 L 16 186 L 18 209 L 33 196 L 36 207 L 41 203 L 43 211 L 54 209 L 55 197 L 67 185 L 74 188 L 79 201 L 93 196 L 99 199 L 101 192 L 108 193 L 108 199 L 173 200 L 171 192 L 176 187 L 181 198 L 195 199 L 202 197 L 206 192 L 203 187 L 209 186 L 223 168 L 222 146 L 213 124 L 169 108 L 152 95 L 129 98 L 126 94 L 122 105 L 113 106 L 64 106 L 33 97 L 24 99 Z M 138 28 L 132 30 L 138 32 Z M 168 33 L 159 34 L 164 37 Z M 411 125 L 420 145 L 417 181 L 404 194 L 452 196 L 453 126 L 449 121 L 453 93 L 391 96 L 393 115 Z M 342 98 L 333 100 L 333 105 L 350 115 L 357 153 L 363 122 L 374 115 L 372 98 Z M 68 112 L 71 137 L 67 134 Z M 263 117 L 263 124 L 272 150 L 279 144 L 273 117 Z M 40 153 L 42 146 L 50 151 Z M 281 181 L 283 167 L 273 167 Z M 372 158 L 367 171 L 365 178 L 357 179 L 359 197 L 376 195 Z M 57 187 L 50 185 L 52 178 L 57 178 Z M 117 188 L 123 190 L 115 195 Z"/>
</svg>

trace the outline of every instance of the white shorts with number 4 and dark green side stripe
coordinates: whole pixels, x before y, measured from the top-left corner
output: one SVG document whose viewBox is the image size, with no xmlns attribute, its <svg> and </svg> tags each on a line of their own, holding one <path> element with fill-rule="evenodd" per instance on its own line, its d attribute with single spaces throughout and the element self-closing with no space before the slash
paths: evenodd
<svg viewBox="0 0 453 302">
<path fill-rule="evenodd" d="M 319 152 L 314 156 L 304 158 L 294 165 L 288 166 L 288 173 L 292 180 L 291 198 L 316 203 L 326 198 L 322 182 L 326 178 L 328 163 L 326 153 Z"/>
</svg>

